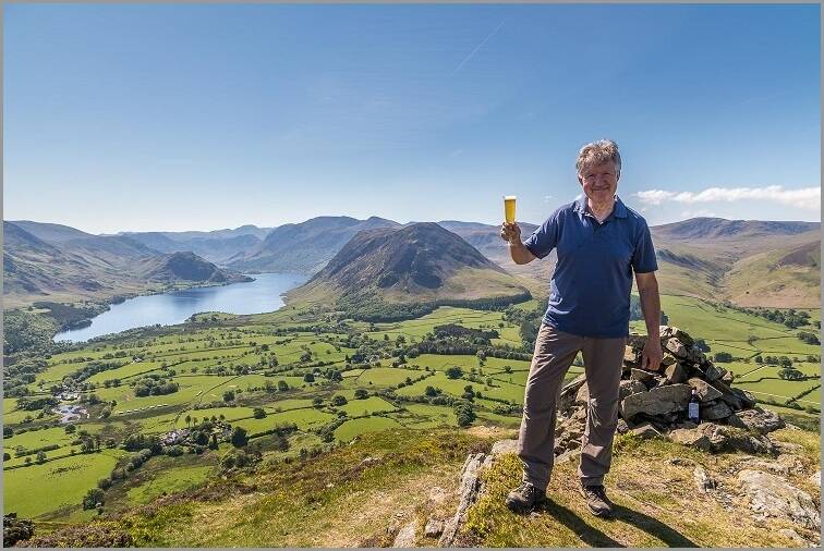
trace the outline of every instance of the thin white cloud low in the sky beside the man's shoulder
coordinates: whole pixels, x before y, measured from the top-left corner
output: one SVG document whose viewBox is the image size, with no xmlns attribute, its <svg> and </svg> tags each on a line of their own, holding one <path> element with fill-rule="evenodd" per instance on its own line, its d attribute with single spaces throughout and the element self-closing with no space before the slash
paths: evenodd
<svg viewBox="0 0 824 551">
<path fill-rule="evenodd" d="M 785 189 L 780 185 L 767 185 L 764 187 L 707 187 L 701 192 L 647 189 L 638 192 L 635 196 L 641 203 L 647 205 L 661 205 L 664 201 L 696 204 L 755 199 L 776 201 L 807 210 L 821 208 L 821 187 Z"/>
</svg>

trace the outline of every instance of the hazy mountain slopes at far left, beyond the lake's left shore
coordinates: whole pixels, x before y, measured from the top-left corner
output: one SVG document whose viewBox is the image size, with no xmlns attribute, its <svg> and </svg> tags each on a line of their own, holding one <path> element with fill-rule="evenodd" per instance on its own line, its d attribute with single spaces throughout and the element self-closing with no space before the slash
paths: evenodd
<svg viewBox="0 0 824 551">
<path fill-rule="evenodd" d="M 37 301 L 106 301 L 170 285 L 247 281 L 193 253 L 163 254 L 129 235 L 92 235 L 59 224 L 3 221 L 5 308 Z"/>
</svg>

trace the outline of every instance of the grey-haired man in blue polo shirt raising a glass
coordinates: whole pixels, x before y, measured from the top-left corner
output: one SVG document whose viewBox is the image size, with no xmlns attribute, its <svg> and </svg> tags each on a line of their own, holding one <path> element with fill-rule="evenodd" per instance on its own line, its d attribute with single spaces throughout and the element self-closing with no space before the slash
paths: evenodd
<svg viewBox="0 0 824 551">
<path fill-rule="evenodd" d="M 632 272 L 650 335 L 642 367 L 657 369 L 663 358 L 655 279 L 658 266 L 646 221 L 616 195 L 621 158 L 615 142 L 585 145 L 575 168 L 583 188 L 580 200 L 558 208 L 523 243 L 517 223 L 505 222 L 500 231 L 516 264 L 544 258 L 554 248 L 558 255 L 524 391 L 518 438 L 522 483 L 506 502 L 512 511 L 526 512 L 546 500 L 556 403 L 564 377 L 580 351 L 590 391 L 578 468 L 580 493 L 594 515 L 610 516 L 613 504 L 604 489 L 604 476 L 618 425 Z"/>
</svg>

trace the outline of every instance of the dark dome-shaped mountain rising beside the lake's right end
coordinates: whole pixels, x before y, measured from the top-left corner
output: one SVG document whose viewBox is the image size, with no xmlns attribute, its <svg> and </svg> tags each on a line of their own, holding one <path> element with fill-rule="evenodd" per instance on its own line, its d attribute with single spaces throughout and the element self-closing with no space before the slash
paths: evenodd
<svg viewBox="0 0 824 551">
<path fill-rule="evenodd" d="M 377 296 L 385 303 L 529 296 L 512 276 L 434 222 L 362 230 L 287 296 L 312 302 Z"/>
</svg>

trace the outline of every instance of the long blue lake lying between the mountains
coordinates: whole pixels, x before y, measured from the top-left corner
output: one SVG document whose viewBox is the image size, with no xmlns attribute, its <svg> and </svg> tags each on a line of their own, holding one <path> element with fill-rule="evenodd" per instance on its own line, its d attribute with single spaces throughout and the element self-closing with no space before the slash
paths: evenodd
<svg viewBox="0 0 824 551">
<path fill-rule="evenodd" d="M 144 295 L 112 304 L 92 325 L 54 335 L 54 341 L 86 341 L 135 327 L 182 323 L 198 311 L 260 314 L 283 306 L 281 294 L 308 280 L 301 273 L 251 273 L 255 281 Z"/>
</svg>

